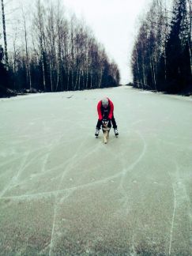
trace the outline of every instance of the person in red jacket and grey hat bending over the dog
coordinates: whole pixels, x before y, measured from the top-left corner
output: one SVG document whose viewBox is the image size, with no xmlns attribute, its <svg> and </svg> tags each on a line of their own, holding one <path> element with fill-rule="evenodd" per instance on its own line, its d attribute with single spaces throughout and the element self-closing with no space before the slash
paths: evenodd
<svg viewBox="0 0 192 256">
<path fill-rule="evenodd" d="M 104 98 L 103 100 L 100 100 L 97 104 L 97 112 L 99 115 L 98 122 L 96 124 L 96 134 L 95 136 L 97 137 L 100 133 L 100 126 L 102 125 L 102 120 L 107 119 L 110 123 L 112 122 L 113 129 L 115 132 L 115 136 L 119 135 L 118 130 L 117 130 L 117 124 L 115 122 L 115 118 L 113 115 L 114 111 L 114 104 L 109 98 Z"/>
</svg>

